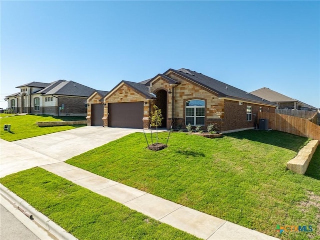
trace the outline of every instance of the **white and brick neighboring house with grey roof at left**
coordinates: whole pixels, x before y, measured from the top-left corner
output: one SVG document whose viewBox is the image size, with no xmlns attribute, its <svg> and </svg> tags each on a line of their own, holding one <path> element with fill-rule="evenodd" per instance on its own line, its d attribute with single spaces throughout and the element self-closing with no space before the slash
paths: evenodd
<svg viewBox="0 0 320 240">
<path fill-rule="evenodd" d="M 31 82 L 17 86 L 20 92 L 5 100 L 13 113 L 85 116 L 85 100 L 94 89 L 73 81 Z"/>
</svg>

